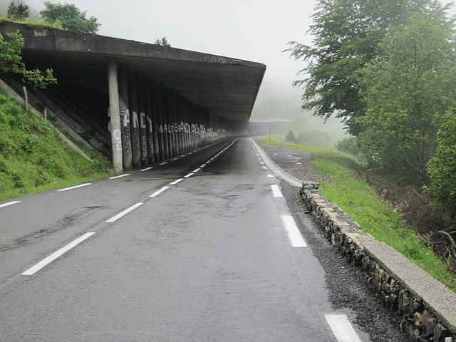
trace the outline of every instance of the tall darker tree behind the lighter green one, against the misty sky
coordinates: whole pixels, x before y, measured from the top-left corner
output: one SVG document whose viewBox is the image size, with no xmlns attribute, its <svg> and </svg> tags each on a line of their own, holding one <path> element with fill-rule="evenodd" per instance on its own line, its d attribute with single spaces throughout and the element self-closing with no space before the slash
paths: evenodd
<svg viewBox="0 0 456 342">
<path fill-rule="evenodd" d="M 351 118 L 362 116 L 365 105 L 358 90 L 358 71 L 378 54 L 378 43 L 390 27 L 404 23 L 411 13 L 445 16 L 437 0 L 318 0 L 309 33 L 314 44 L 289 43 L 291 57 L 307 66 L 295 81 L 304 87 L 304 110 L 346 120 L 348 130 L 360 128 Z"/>
</svg>

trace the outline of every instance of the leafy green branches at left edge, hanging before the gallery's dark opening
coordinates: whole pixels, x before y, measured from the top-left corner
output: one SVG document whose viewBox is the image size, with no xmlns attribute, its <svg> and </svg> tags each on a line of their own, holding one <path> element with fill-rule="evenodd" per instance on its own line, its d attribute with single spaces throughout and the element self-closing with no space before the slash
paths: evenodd
<svg viewBox="0 0 456 342">
<path fill-rule="evenodd" d="M 57 83 L 52 69 L 46 69 L 46 71 L 26 69 L 21 58 L 24 42 L 24 36 L 19 31 L 9 33 L 6 40 L 0 34 L 0 73 L 19 73 L 24 77 L 24 82 L 31 83 L 38 88 L 46 88 L 50 84 Z"/>
</svg>

